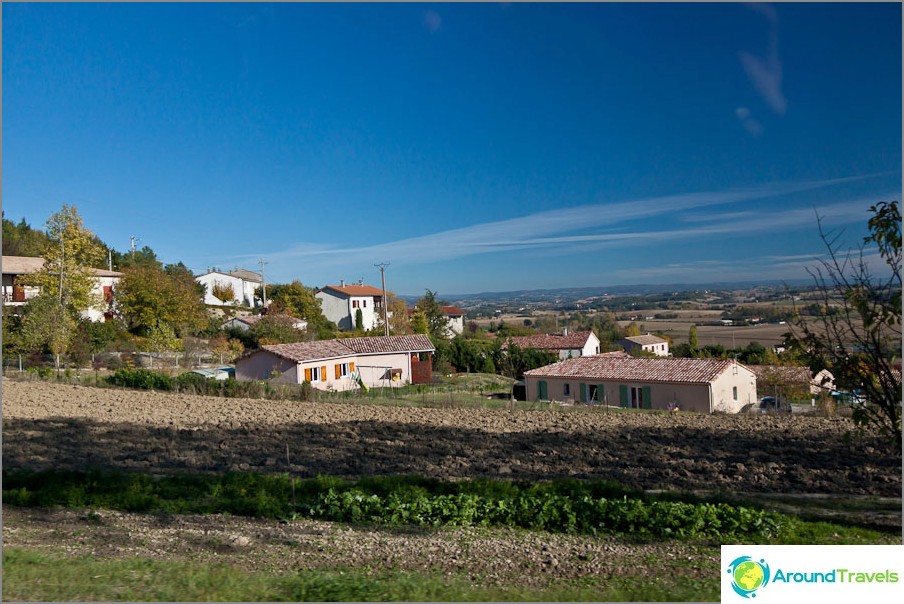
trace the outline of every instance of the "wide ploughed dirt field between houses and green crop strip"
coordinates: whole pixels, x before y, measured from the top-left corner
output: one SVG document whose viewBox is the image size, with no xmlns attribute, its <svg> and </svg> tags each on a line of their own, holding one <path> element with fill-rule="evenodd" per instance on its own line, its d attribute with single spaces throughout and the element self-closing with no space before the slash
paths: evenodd
<svg viewBox="0 0 904 604">
<path fill-rule="evenodd" d="M 412 409 L 3 380 L 6 469 L 574 477 L 899 497 L 901 458 L 881 450 L 842 418 Z"/>
</svg>

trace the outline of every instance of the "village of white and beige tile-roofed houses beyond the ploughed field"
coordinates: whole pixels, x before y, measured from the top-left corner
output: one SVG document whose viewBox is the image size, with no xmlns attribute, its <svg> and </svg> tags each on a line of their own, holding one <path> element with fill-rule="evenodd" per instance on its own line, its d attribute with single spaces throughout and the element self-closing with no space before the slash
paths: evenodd
<svg viewBox="0 0 904 604">
<path fill-rule="evenodd" d="M 47 249 L 55 245 L 51 242 Z M 168 373 L 178 372 L 181 366 L 182 371 L 213 380 L 305 384 L 328 392 L 425 385 L 433 383 L 436 374 L 487 372 L 513 380 L 508 392 L 512 400 L 707 414 L 811 412 L 817 404 L 820 410 L 838 402 L 850 404 L 854 396 L 836 390 L 828 370 L 811 372 L 802 360 L 791 358 L 784 345 L 767 349 L 751 341 L 735 350 L 701 345 L 693 341 L 695 323 L 689 324 L 690 335 L 677 347 L 664 331 L 640 333 L 643 319 L 655 326 L 653 320 L 659 316 L 646 316 L 640 309 L 623 316 L 628 320 L 621 322 L 616 313 L 599 309 L 583 317 L 572 314 L 570 320 L 563 315 L 558 330 L 558 315 L 542 314 L 533 321 L 484 321 L 482 327 L 475 320 L 477 313 L 468 317 L 465 310 L 438 300 L 429 289 L 409 306 L 363 279 L 353 283 L 340 279 L 309 289 L 298 282 L 267 284 L 260 272 L 238 267 L 207 268 L 191 275 L 195 289 L 189 296 L 195 297 L 196 309 L 203 308 L 207 319 L 196 323 L 200 328 L 192 331 L 181 325 L 176 334 L 172 326 L 155 318 L 156 323 L 146 329 L 127 316 L 142 311 L 142 302 L 134 301 L 141 297 L 135 275 L 156 270 L 165 279 L 165 271 L 154 267 L 150 248 L 140 250 L 137 262 L 134 250 L 119 255 L 127 264 L 125 273 L 112 270 L 112 250 L 107 255 L 108 268 L 87 267 L 85 279 L 94 297 L 81 310 L 82 320 L 119 325 L 121 334 L 122 326 L 131 325 L 120 343 L 138 345 L 120 347 L 124 353 L 113 350 L 115 345 L 98 347 L 88 360 L 72 354 L 78 350 L 76 343 L 69 349 L 65 371 L 71 371 L 70 366 L 78 371 L 80 363 L 84 369 L 86 362 L 88 369 L 105 362 L 104 369 L 116 369 L 126 358 L 136 367 L 156 364 Z M 144 265 L 143 259 L 148 260 Z M 35 276 L 48 277 L 44 283 L 53 287 L 55 276 L 61 275 L 65 286 L 66 271 L 75 269 L 61 270 L 61 262 L 59 258 L 47 262 L 41 257 L 3 256 L 3 305 L 9 316 L 5 326 L 15 324 L 14 317 L 27 317 L 29 303 L 41 298 L 41 282 Z M 187 271 L 183 272 L 187 280 Z M 59 293 L 57 289 L 52 295 Z M 305 298 L 307 305 L 297 303 L 299 298 Z M 787 316 L 784 312 L 782 316 Z M 638 314 L 641 321 L 636 320 Z M 753 324 L 759 321 L 754 318 Z M 724 326 L 731 321 L 717 323 Z M 168 340 L 159 337 L 161 327 Z M 35 356 L 39 350 L 26 350 L 22 344 L 26 338 L 17 338 L 12 327 L 9 333 L 11 337 L 4 338 L 5 370 L 41 370 L 23 366 L 23 352 L 30 352 L 25 357 L 33 362 L 40 359 Z M 186 349 L 189 341 L 190 351 Z M 47 342 L 44 346 L 49 346 Z M 51 347 L 44 351 L 52 352 Z"/>
</svg>

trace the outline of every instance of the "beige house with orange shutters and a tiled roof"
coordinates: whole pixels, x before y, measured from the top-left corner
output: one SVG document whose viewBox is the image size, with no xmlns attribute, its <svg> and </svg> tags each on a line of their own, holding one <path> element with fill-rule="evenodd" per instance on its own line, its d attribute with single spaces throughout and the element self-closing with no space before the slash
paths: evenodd
<svg viewBox="0 0 904 604">
<path fill-rule="evenodd" d="M 360 384 L 368 388 L 423 384 L 433 378 L 434 351 L 423 334 L 274 344 L 237 359 L 235 377 L 239 381 L 307 381 L 320 390 L 336 391 L 353 390 Z"/>
</svg>

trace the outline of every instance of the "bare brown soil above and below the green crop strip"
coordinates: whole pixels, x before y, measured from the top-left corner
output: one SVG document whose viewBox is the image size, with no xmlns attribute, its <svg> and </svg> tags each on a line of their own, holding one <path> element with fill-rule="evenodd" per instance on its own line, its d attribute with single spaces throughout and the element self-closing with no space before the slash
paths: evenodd
<svg viewBox="0 0 904 604">
<path fill-rule="evenodd" d="M 3 380 L 5 469 L 574 477 L 643 489 L 899 498 L 901 457 L 886 451 L 879 437 L 843 418 L 412 409 Z M 651 555 L 691 576 L 718 569 L 717 548 L 686 543 L 104 510 L 6 508 L 3 543 L 101 557 L 229 560 L 252 570 L 443 569 L 536 586 L 578 576 L 653 577 L 663 569 L 648 568 Z"/>
</svg>

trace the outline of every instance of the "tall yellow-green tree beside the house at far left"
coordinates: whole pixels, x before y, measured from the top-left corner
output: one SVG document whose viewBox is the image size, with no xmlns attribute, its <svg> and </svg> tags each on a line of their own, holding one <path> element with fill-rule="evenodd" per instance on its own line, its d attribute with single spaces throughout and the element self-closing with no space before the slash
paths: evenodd
<svg viewBox="0 0 904 604">
<path fill-rule="evenodd" d="M 39 287 L 44 295 L 76 311 L 99 307 L 101 297 L 93 291 L 93 269 L 103 265 L 104 250 L 82 224 L 78 209 L 63 205 L 47 219 L 46 233 L 41 253 L 44 266 L 24 277 L 23 283 Z"/>
</svg>

